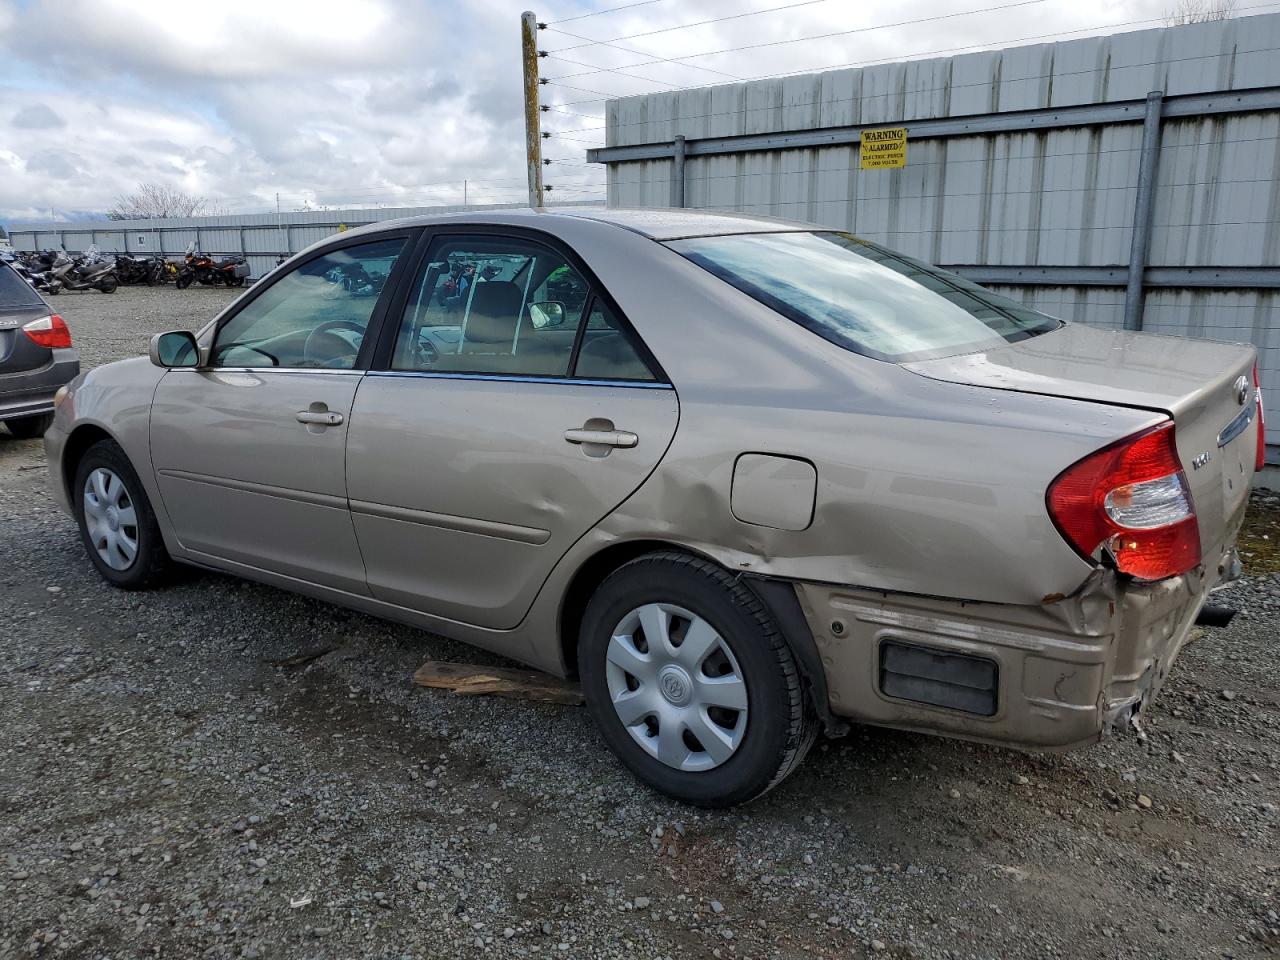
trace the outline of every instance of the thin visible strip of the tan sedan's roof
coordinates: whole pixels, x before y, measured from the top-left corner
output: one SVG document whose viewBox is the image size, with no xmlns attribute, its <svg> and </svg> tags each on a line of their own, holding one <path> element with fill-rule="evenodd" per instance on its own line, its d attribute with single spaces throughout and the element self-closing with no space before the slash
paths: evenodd
<svg viewBox="0 0 1280 960">
<path fill-rule="evenodd" d="M 466 223 L 534 227 L 556 232 L 556 223 L 563 223 L 566 219 L 612 224 L 654 241 L 673 241 L 687 237 L 721 237 L 733 233 L 782 233 L 823 229 L 813 224 L 780 220 L 769 216 L 744 216 L 742 214 L 721 214 L 710 210 L 645 210 L 623 207 L 471 210 L 384 220 L 358 229 L 361 233 L 369 233 L 378 229 L 387 229 L 388 227 L 430 227 L 434 224 Z"/>
</svg>

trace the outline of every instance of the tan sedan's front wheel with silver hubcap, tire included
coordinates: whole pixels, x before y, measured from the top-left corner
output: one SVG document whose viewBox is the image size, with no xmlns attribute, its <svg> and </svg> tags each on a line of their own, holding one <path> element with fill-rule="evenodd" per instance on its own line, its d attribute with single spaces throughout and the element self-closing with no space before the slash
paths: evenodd
<svg viewBox="0 0 1280 960">
<path fill-rule="evenodd" d="M 102 579 L 124 590 L 163 582 L 173 570 L 142 481 L 114 440 L 81 458 L 72 486 L 81 541 Z"/>
</svg>

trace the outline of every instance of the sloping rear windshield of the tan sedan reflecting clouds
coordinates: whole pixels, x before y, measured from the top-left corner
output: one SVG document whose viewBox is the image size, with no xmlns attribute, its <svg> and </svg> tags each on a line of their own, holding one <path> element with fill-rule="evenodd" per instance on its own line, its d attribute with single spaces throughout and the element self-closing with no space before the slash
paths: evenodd
<svg viewBox="0 0 1280 960">
<path fill-rule="evenodd" d="M 735 234 L 668 246 L 805 329 L 877 360 L 966 353 L 1061 325 L 847 233 Z"/>
</svg>

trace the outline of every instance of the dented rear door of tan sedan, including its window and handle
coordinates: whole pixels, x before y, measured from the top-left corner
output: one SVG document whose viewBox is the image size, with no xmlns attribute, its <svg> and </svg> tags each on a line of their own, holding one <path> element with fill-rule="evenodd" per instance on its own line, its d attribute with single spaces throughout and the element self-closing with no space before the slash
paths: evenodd
<svg viewBox="0 0 1280 960">
<path fill-rule="evenodd" d="M 517 232 L 438 237 L 398 320 L 347 440 L 369 589 L 513 627 L 658 465 L 676 393 L 577 257 Z"/>
</svg>

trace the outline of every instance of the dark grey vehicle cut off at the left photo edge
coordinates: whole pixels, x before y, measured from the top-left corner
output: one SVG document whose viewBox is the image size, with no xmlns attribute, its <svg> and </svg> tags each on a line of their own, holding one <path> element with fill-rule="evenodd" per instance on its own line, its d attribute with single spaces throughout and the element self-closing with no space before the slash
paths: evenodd
<svg viewBox="0 0 1280 960">
<path fill-rule="evenodd" d="M 0 262 L 0 422 L 20 439 L 40 436 L 54 420 L 54 394 L 77 374 L 67 324 Z"/>
</svg>

